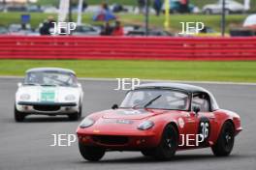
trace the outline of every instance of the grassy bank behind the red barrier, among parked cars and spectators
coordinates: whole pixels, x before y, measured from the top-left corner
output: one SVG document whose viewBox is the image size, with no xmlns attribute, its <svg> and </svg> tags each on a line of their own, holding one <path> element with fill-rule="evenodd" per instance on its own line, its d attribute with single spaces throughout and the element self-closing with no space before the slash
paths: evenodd
<svg viewBox="0 0 256 170">
<path fill-rule="evenodd" d="M 9 25 L 11 23 L 20 22 L 21 13 L 0 13 L 0 25 Z M 33 28 L 37 28 L 41 22 L 48 18 L 50 14 L 31 14 L 31 25 Z M 52 14 L 56 18 L 56 14 Z M 144 15 L 142 14 L 119 14 L 119 19 L 124 24 L 139 24 L 144 25 Z M 241 25 L 245 19 L 245 14 L 230 14 L 227 16 L 227 31 L 234 25 Z M 77 19 L 77 15 L 74 14 L 74 20 Z M 205 25 L 212 27 L 216 31 L 220 31 L 221 15 L 204 15 L 204 14 L 172 14 L 170 16 L 171 31 L 181 31 L 181 24 L 179 22 L 204 22 Z M 151 28 L 163 28 L 165 16 L 150 15 L 149 25 Z M 94 22 L 92 20 L 92 14 L 83 14 L 83 23 L 90 24 L 103 24 L 103 22 Z"/>
</svg>

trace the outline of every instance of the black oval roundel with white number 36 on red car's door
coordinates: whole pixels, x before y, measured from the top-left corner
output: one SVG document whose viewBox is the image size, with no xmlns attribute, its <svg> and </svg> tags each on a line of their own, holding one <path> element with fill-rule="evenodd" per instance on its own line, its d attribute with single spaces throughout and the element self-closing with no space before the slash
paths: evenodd
<svg viewBox="0 0 256 170">
<path fill-rule="evenodd" d="M 206 142 L 208 141 L 209 132 L 210 132 L 210 124 L 209 124 L 208 118 L 207 117 L 200 118 L 198 134 L 200 134 L 199 140 L 202 141 L 200 142 L 201 145 L 206 144 Z"/>
</svg>

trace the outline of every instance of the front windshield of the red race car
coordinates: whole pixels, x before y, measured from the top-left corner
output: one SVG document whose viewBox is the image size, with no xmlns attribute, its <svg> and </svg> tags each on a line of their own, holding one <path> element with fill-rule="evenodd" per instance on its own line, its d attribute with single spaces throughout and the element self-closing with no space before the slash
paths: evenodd
<svg viewBox="0 0 256 170">
<path fill-rule="evenodd" d="M 188 94 L 176 90 L 139 89 L 130 91 L 120 108 L 188 110 Z"/>
</svg>

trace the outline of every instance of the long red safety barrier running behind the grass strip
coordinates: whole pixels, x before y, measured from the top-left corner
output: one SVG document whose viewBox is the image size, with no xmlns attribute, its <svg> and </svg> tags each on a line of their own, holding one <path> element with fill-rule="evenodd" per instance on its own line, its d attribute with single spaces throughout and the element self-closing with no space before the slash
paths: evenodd
<svg viewBox="0 0 256 170">
<path fill-rule="evenodd" d="M 256 38 L 2 36 L 0 59 L 256 60 Z"/>
</svg>

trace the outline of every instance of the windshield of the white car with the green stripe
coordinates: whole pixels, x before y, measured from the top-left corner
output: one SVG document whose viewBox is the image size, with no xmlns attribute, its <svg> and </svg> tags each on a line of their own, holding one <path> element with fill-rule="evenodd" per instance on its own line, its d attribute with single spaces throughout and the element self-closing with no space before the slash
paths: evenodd
<svg viewBox="0 0 256 170">
<path fill-rule="evenodd" d="M 26 74 L 24 85 L 77 86 L 77 77 L 72 73 L 59 71 L 34 71 Z"/>
</svg>

